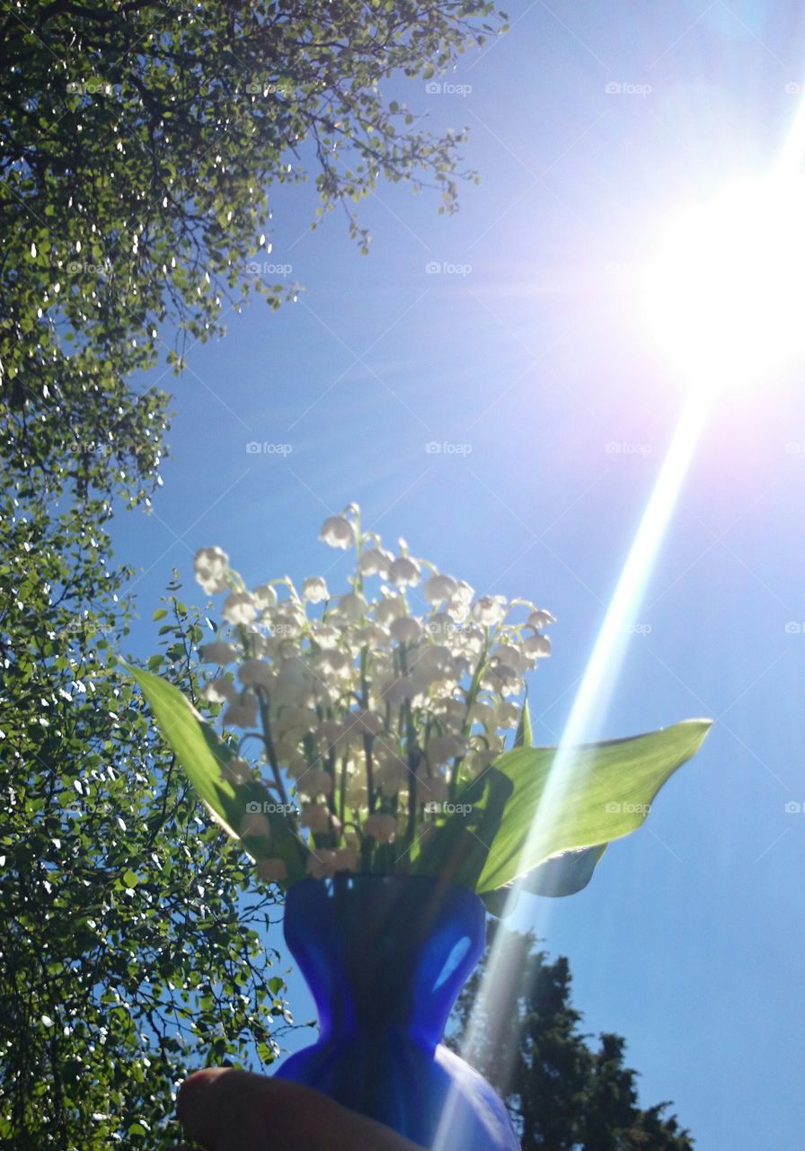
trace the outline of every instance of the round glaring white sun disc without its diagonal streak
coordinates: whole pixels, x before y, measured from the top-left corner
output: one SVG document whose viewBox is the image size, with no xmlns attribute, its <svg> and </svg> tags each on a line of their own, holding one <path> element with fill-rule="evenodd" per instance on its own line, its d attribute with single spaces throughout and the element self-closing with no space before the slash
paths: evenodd
<svg viewBox="0 0 805 1151">
<path fill-rule="evenodd" d="M 644 300 L 689 386 L 774 382 L 805 358 L 805 181 L 743 180 L 668 221 Z"/>
</svg>

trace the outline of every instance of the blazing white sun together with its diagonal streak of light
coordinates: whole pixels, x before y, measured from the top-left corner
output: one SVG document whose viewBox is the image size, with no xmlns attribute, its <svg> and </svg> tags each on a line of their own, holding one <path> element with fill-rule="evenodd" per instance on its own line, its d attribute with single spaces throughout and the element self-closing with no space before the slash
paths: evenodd
<svg viewBox="0 0 805 1151">
<path fill-rule="evenodd" d="M 534 857 L 562 802 L 572 748 L 600 734 L 629 625 L 646 585 L 707 418 L 728 391 L 757 386 L 805 351 L 805 100 L 777 162 L 762 180 L 728 185 L 670 221 L 646 275 L 646 321 L 687 392 L 682 414 L 612 595 L 523 854 Z M 513 910 L 513 892 L 504 914 Z M 543 912 L 543 915 L 545 913 Z M 530 920 L 534 925 L 534 916 Z M 462 1052 L 490 1042 L 503 939 L 492 946 Z M 494 1036 L 491 1036 L 494 1043 Z M 451 1106 L 434 1151 L 450 1146 Z"/>
</svg>

